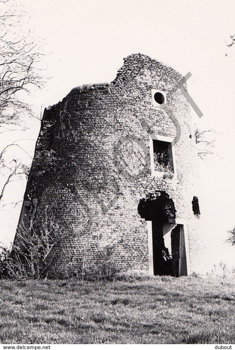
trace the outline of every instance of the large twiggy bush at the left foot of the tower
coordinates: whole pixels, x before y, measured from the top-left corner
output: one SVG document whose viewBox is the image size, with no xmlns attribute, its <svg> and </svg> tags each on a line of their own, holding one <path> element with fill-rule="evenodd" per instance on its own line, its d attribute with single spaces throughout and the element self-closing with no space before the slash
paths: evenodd
<svg viewBox="0 0 235 350">
<path fill-rule="evenodd" d="M 15 243 L 10 248 L 0 246 L 0 276 L 14 280 L 46 277 L 56 247 L 68 235 L 54 224 L 18 231 Z"/>
</svg>

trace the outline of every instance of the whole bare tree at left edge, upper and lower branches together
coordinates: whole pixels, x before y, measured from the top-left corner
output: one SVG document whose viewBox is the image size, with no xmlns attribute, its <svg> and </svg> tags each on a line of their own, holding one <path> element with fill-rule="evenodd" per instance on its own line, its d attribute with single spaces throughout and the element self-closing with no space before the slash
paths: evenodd
<svg viewBox="0 0 235 350">
<path fill-rule="evenodd" d="M 30 31 L 25 33 L 24 15 L 12 0 L 0 0 L 0 134 L 24 130 L 22 120 L 26 114 L 33 115 L 26 102 L 27 94 L 43 84 L 39 69 L 41 48 Z M 0 175 L 5 179 L 0 188 L 0 202 L 9 182 L 19 180 L 28 171 L 15 155 L 6 160 L 9 149 L 22 149 L 17 141 L 0 150 Z"/>
</svg>

